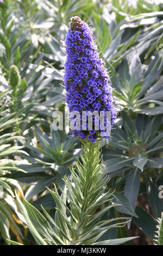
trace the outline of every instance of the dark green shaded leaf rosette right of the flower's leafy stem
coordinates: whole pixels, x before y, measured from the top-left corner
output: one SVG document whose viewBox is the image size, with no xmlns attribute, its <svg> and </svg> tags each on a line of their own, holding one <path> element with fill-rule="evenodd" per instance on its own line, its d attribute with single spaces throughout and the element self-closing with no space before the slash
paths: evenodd
<svg viewBox="0 0 163 256">
<path fill-rule="evenodd" d="M 154 157 L 163 149 L 162 132 L 159 131 L 161 119 L 160 115 L 150 118 L 139 114 L 134 125 L 129 116 L 122 112 L 123 125 L 120 128 L 117 124 L 109 142 L 111 148 L 103 150 L 104 164 L 112 178 L 112 186 L 117 192 L 124 191 L 135 209 L 137 196 L 141 192 L 140 181 L 143 182 L 155 217 L 163 210 L 163 202 L 158 197 L 163 162 L 161 157 Z M 157 180 L 148 176 L 155 169 L 160 173 Z"/>
</svg>

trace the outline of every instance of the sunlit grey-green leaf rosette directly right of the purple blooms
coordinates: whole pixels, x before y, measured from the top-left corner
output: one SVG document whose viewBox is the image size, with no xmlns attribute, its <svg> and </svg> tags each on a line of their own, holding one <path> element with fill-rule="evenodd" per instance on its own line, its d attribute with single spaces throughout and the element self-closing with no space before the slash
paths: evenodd
<svg viewBox="0 0 163 256">
<path fill-rule="evenodd" d="M 158 62 L 159 65 L 155 65 Z M 109 64 L 108 64 L 109 66 Z M 161 80 L 156 81 L 162 71 L 163 62 L 155 56 L 146 71 L 139 55 L 136 53 L 128 65 L 127 59 L 122 61 L 118 68 L 118 74 L 112 70 L 112 84 L 116 88 L 116 103 L 125 111 L 137 112 L 148 115 L 162 114 L 162 86 Z M 151 72 L 149 72 L 151 70 Z M 153 84 L 153 82 L 155 82 Z M 150 90 L 149 90 L 150 88 Z"/>
</svg>

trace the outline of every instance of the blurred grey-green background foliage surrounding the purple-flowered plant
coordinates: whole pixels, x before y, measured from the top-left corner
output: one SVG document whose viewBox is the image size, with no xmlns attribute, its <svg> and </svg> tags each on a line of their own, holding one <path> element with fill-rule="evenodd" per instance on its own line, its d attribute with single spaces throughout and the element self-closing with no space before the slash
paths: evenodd
<svg viewBox="0 0 163 256">
<path fill-rule="evenodd" d="M 163 202 L 163 2 L 160 0 L 4 0 L 0 4 L 0 244 L 35 241 L 20 213 L 15 191 L 53 216 L 52 194 L 70 174 L 81 151 L 77 139 L 54 131 L 53 112 L 65 111 L 64 40 L 71 16 L 95 28 L 100 56 L 120 110 L 104 166 L 121 206 L 102 218 L 132 218 L 108 230 L 105 240 L 152 245 Z M 12 83 L 13 65 L 18 80 Z M 110 188 L 108 187 L 108 189 Z"/>
</svg>

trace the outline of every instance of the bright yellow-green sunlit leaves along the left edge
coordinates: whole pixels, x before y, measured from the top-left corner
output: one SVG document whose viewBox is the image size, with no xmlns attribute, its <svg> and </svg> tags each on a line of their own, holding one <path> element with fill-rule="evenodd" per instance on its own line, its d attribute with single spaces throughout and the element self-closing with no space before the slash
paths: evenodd
<svg viewBox="0 0 163 256">
<path fill-rule="evenodd" d="M 22 147 L 12 145 L 15 140 L 21 137 L 17 136 L 16 132 L 8 131 L 15 124 L 16 119 L 13 118 L 13 114 L 7 114 L 5 97 L 7 97 L 5 93 L 0 95 L 0 231 L 4 240 L 6 238 L 10 239 L 9 229 L 11 228 L 18 241 L 22 241 L 22 232 L 17 224 L 20 221 L 16 217 L 18 209 L 14 196 L 14 191 L 22 192 L 22 188 L 16 180 L 6 178 L 5 175 L 16 171 L 23 171 L 16 167 L 18 161 L 12 159 L 13 154 L 23 153 L 23 150 L 21 150 Z"/>
</svg>

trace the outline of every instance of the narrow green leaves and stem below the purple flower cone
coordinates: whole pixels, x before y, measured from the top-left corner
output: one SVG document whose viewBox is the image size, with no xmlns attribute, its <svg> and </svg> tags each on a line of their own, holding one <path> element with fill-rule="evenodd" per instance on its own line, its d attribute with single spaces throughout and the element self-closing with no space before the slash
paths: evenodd
<svg viewBox="0 0 163 256">
<path fill-rule="evenodd" d="M 90 142 L 84 142 L 83 153 L 76 162 L 76 170 L 71 169 L 73 183 L 65 176 L 61 196 L 56 187 L 54 191 L 48 189 L 56 204 L 54 220 L 43 207 L 44 216 L 26 199 L 23 199 L 22 204 L 17 197 L 21 212 L 37 244 L 109 245 L 134 238 L 98 242 L 108 229 L 123 227 L 126 223 L 112 224 L 118 218 L 101 221 L 101 216 L 118 204 L 110 204 L 112 193 L 105 192 L 108 179 L 105 179 L 99 145 L 100 142 L 97 142 L 92 147 Z M 70 202 L 69 205 L 66 199 Z M 104 207 L 104 204 L 108 206 Z"/>
</svg>

